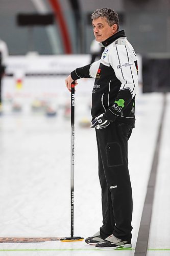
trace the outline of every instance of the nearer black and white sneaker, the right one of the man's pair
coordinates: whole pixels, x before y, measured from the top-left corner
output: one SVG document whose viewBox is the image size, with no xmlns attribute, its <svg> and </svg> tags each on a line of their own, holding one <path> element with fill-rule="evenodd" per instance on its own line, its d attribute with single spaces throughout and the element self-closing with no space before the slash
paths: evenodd
<svg viewBox="0 0 170 256">
<path fill-rule="evenodd" d="M 95 245 L 95 249 L 99 250 L 115 250 L 117 248 L 131 248 L 131 241 L 123 241 L 118 239 L 111 234 L 108 238 L 106 238 L 103 242 L 100 242 Z"/>
</svg>

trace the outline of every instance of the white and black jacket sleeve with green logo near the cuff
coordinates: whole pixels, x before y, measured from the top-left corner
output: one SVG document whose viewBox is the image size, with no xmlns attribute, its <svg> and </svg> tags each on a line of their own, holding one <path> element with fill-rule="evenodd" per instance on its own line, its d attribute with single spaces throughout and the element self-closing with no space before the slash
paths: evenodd
<svg viewBox="0 0 170 256">
<path fill-rule="evenodd" d="M 137 59 L 134 51 L 127 49 L 125 45 L 117 45 L 113 47 L 109 55 L 109 62 L 117 79 L 121 82 L 113 105 L 105 113 L 107 119 L 114 121 L 117 116 L 124 116 L 126 107 L 136 94 L 138 87 Z"/>
</svg>

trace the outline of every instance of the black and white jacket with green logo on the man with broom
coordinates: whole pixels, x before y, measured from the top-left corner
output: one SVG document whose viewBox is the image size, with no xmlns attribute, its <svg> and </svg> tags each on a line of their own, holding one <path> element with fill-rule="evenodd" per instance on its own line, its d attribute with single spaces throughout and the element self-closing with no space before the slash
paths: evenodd
<svg viewBox="0 0 170 256">
<path fill-rule="evenodd" d="M 124 30 L 100 43 L 105 47 L 99 61 L 71 72 L 71 78 L 95 78 L 92 90 L 92 118 L 105 113 L 110 121 L 134 127 L 135 94 L 138 87 L 137 58 Z"/>
</svg>

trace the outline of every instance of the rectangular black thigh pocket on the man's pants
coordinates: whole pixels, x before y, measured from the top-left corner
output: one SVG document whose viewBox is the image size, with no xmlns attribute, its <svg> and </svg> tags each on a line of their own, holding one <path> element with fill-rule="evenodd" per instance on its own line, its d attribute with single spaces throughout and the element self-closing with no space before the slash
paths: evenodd
<svg viewBox="0 0 170 256">
<path fill-rule="evenodd" d="M 118 142 L 107 143 L 107 164 L 109 167 L 123 165 L 122 149 Z"/>
</svg>

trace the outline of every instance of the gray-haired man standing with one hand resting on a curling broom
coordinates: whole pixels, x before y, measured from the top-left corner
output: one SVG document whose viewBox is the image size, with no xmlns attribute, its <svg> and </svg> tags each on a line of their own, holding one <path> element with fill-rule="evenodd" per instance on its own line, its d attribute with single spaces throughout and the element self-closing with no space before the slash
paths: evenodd
<svg viewBox="0 0 170 256">
<path fill-rule="evenodd" d="M 94 77 L 92 128 L 96 131 L 103 226 L 86 239 L 96 249 L 131 248 L 132 189 L 128 170 L 128 139 L 135 123 L 137 59 L 118 15 L 103 8 L 91 15 L 96 41 L 105 47 L 99 61 L 72 71 L 73 80 Z M 76 81 L 77 84 L 77 81 Z"/>
</svg>

